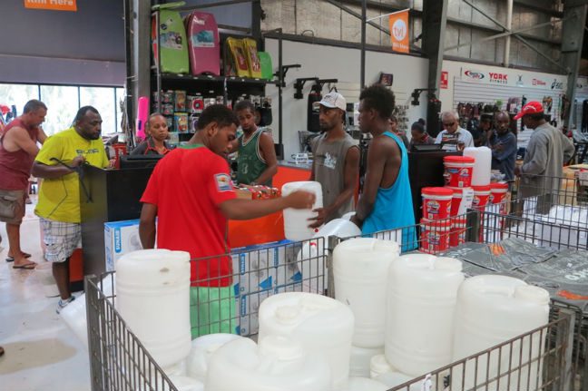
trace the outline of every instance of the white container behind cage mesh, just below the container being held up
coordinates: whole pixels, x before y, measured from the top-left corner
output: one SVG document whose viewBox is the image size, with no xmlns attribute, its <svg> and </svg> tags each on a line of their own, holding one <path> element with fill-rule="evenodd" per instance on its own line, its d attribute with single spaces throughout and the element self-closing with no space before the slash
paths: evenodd
<svg viewBox="0 0 588 391">
<path fill-rule="evenodd" d="M 297 260 L 305 292 L 321 294 L 327 288 L 328 273 L 323 259 L 327 255 L 328 237 L 349 238 L 358 235 L 361 235 L 361 230 L 357 225 L 349 220 L 334 219 L 322 226 L 312 239 L 304 242 Z"/>
</svg>

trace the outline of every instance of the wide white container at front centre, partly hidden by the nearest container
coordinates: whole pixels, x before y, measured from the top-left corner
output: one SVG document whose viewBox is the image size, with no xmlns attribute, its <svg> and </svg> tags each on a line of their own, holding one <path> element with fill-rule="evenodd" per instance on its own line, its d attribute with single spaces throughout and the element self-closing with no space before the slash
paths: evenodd
<svg viewBox="0 0 588 391">
<path fill-rule="evenodd" d="M 290 337 L 310 356 L 326 357 L 333 387 L 345 386 L 349 376 L 353 313 L 334 298 L 288 292 L 266 298 L 260 305 L 259 340 Z"/>
</svg>

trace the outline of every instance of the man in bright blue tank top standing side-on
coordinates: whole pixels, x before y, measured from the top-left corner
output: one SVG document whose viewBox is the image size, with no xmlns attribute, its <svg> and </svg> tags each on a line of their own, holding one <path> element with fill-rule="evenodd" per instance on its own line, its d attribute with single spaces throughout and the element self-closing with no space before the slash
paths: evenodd
<svg viewBox="0 0 588 391">
<path fill-rule="evenodd" d="M 402 230 L 402 250 L 417 248 L 407 149 L 390 132 L 388 119 L 395 105 L 394 93 L 381 84 L 359 95 L 359 129 L 371 133 L 364 189 L 351 219 L 364 235 L 382 230 Z M 407 228 L 410 227 L 410 228 Z M 388 238 L 385 235 L 384 238 Z M 397 236 L 397 241 L 400 235 Z"/>
</svg>

